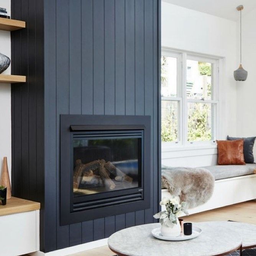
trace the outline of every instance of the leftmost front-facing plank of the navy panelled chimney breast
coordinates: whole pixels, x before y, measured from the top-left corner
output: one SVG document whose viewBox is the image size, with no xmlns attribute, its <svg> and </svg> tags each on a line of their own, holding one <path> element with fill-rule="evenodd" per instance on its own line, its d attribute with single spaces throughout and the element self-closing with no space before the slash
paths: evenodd
<svg viewBox="0 0 256 256">
<path fill-rule="evenodd" d="M 56 1 L 46 1 L 44 15 L 44 119 L 45 119 L 45 172 L 43 178 L 47 181 L 44 198 L 44 214 L 40 211 L 40 250 L 53 251 L 57 249 L 57 102 L 56 102 Z M 55 201 L 55 202 L 54 202 Z M 42 218 L 43 217 L 43 218 Z M 45 220 L 45 221 L 44 221 Z M 44 221 L 44 222 L 43 222 Z M 43 222 L 43 223 L 42 223 Z M 44 242 L 45 240 L 45 242 Z M 43 246 L 44 245 L 44 246 Z"/>
</svg>

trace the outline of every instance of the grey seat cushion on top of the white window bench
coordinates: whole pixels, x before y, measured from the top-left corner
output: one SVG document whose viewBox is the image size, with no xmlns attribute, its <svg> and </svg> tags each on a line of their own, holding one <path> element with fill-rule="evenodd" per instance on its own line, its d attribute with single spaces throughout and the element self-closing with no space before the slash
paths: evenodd
<svg viewBox="0 0 256 256">
<path fill-rule="evenodd" d="M 248 174 L 254 174 L 254 169 L 256 169 L 256 164 L 213 165 L 213 166 L 203 166 L 203 168 L 212 172 L 212 175 L 216 181 L 220 179 L 227 179 L 232 177 L 244 176 Z"/>
</svg>

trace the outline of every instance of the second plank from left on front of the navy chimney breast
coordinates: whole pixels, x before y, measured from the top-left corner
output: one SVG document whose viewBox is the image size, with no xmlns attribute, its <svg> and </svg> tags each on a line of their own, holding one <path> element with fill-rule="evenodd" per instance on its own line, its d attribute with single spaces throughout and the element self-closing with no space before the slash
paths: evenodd
<svg viewBox="0 0 256 256">
<path fill-rule="evenodd" d="M 59 225 L 59 117 L 69 114 L 69 0 L 56 0 L 56 206 L 57 249 L 69 247 L 69 226 Z"/>
</svg>

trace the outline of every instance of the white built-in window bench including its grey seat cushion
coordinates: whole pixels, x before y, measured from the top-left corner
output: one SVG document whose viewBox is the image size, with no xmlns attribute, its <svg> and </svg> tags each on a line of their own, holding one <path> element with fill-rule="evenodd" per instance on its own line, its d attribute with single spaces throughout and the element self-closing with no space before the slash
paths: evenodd
<svg viewBox="0 0 256 256">
<path fill-rule="evenodd" d="M 189 209 L 189 214 L 256 199 L 256 164 L 205 166 L 215 177 L 213 195 L 203 205 Z M 162 198 L 171 194 L 162 189 Z"/>
</svg>

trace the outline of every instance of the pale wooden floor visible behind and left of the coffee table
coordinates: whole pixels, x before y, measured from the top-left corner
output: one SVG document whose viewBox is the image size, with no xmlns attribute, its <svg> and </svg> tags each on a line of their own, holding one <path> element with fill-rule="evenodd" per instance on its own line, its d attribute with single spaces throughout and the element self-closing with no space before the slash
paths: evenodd
<svg viewBox="0 0 256 256">
<path fill-rule="evenodd" d="M 256 200 L 237 203 L 207 212 L 196 213 L 184 217 L 185 221 L 189 222 L 204 222 L 204 221 L 220 221 L 234 220 L 238 222 L 248 222 L 256 224 Z M 115 255 L 108 249 L 108 246 L 102 246 L 82 253 L 75 253 L 69 256 L 113 256 Z"/>
</svg>

